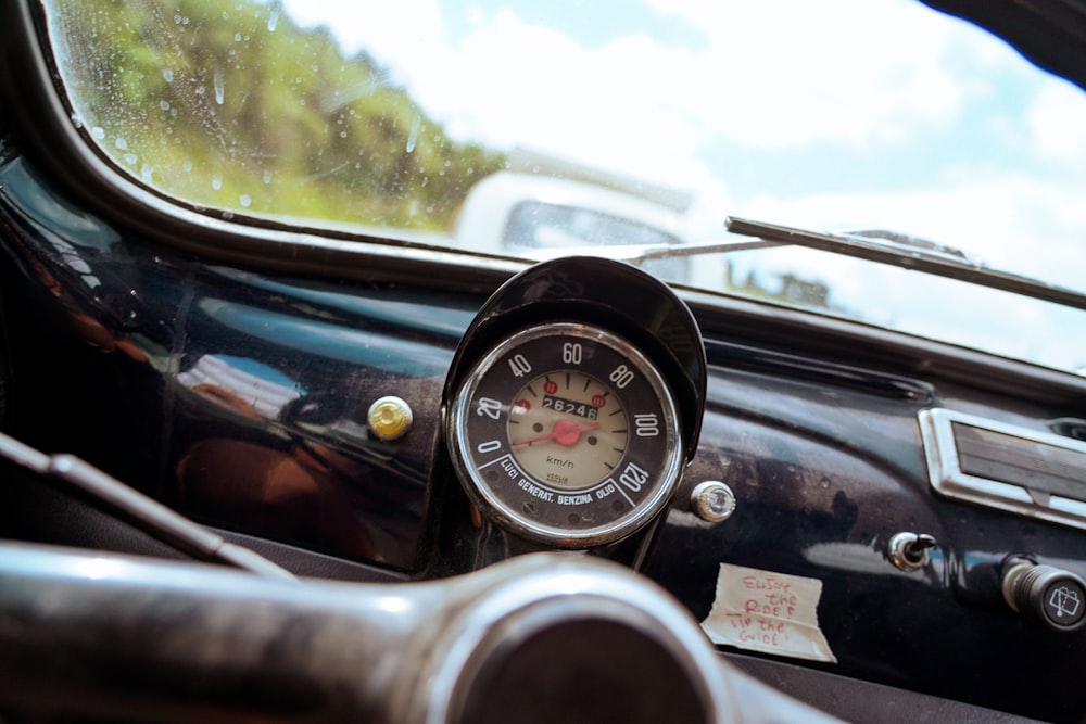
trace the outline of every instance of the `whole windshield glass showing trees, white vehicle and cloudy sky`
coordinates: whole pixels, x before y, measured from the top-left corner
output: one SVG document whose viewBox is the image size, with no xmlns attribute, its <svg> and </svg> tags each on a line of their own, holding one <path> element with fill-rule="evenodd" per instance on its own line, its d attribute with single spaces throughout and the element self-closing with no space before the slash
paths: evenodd
<svg viewBox="0 0 1086 724">
<path fill-rule="evenodd" d="M 526 259 L 734 215 L 1086 289 L 1086 93 L 914 0 L 46 4 L 73 123 L 210 214 Z M 1082 312 L 974 284 L 795 247 L 646 268 L 1086 368 Z"/>
</svg>

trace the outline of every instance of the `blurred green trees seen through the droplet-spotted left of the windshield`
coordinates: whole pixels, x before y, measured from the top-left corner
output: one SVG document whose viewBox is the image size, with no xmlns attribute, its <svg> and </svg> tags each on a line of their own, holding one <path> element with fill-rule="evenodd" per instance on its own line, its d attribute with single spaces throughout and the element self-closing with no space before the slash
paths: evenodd
<svg viewBox="0 0 1086 724">
<path fill-rule="evenodd" d="M 251 0 L 56 0 L 76 117 L 197 207 L 447 231 L 502 154 L 450 139 L 365 53 Z"/>
</svg>

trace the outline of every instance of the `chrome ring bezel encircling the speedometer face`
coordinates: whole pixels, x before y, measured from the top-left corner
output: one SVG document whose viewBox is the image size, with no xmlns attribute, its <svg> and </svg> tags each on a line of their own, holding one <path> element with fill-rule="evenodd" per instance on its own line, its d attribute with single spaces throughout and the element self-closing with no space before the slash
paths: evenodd
<svg viewBox="0 0 1086 724">
<path fill-rule="evenodd" d="M 494 364 L 512 350 L 528 342 L 551 338 L 566 336 L 590 340 L 610 347 L 621 355 L 631 366 L 644 376 L 659 401 L 662 425 L 665 429 L 665 459 L 661 473 L 655 482 L 652 492 L 627 515 L 609 523 L 593 525 L 583 530 L 570 530 L 546 525 L 529 520 L 498 496 L 489 483 L 483 480 L 472 462 L 471 449 L 468 444 L 467 420 L 469 406 L 480 382 Z M 560 548 L 590 548 L 614 543 L 651 521 L 671 500 L 679 486 L 682 469 L 681 432 L 679 430 L 679 414 L 664 378 L 656 366 L 636 347 L 622 338 L 598 327 L 574 322 L 555 322 L 531 327 L 517 332 L 492 347 L 476 363 L 470 372 L 455 392 L 451 415 L 447 420 L 447 441 L 450 454 L 456 473 L 471 501 L 485 515 L 503 528 L 526 538 Z M 626 459 L 626 456 L 622 458 Z M 532 480 L 531 475 L 528 475 Z M 534 481 L 536 484 L 540 481 Z M 546 484 L 541 485 L 544 488 Z"/>
</svg>

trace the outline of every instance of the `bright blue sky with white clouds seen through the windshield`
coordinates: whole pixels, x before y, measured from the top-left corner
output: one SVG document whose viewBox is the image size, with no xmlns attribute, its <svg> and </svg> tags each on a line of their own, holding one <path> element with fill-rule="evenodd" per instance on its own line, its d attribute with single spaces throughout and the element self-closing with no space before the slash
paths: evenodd
<svg viewBox="0 0 1086 724">
<path fill-rule="evenodd" d="M 915 0 L 286 4 L 366 50 L 454 138 L 690 190 L 699 238 L 728 215 L 891 228 L 1086 290 L 1086 93 Z M 885 297 L 880 323 L 946 305 L 799 258 L 845 306 Z M 946 323 L 961 334 L 986 314 Z M 1086 366 L 1086 350 L 1058 354 Z"/>
</svg>

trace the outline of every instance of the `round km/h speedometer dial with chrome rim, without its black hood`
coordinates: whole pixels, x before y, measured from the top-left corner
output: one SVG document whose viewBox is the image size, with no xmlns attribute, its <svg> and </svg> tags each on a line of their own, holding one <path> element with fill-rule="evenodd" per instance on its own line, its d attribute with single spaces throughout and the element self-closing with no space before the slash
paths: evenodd
<svg viewBox="0 0 1086 724">
<path fill-rule="evenodd" d="M 668 386 L 633 345 L 597 327 L 553 323 L 504 339 L 464 379 L 449 425 L 476 505 L 551 545 L 632 533 L 679 479 Z"/>
</svg>

